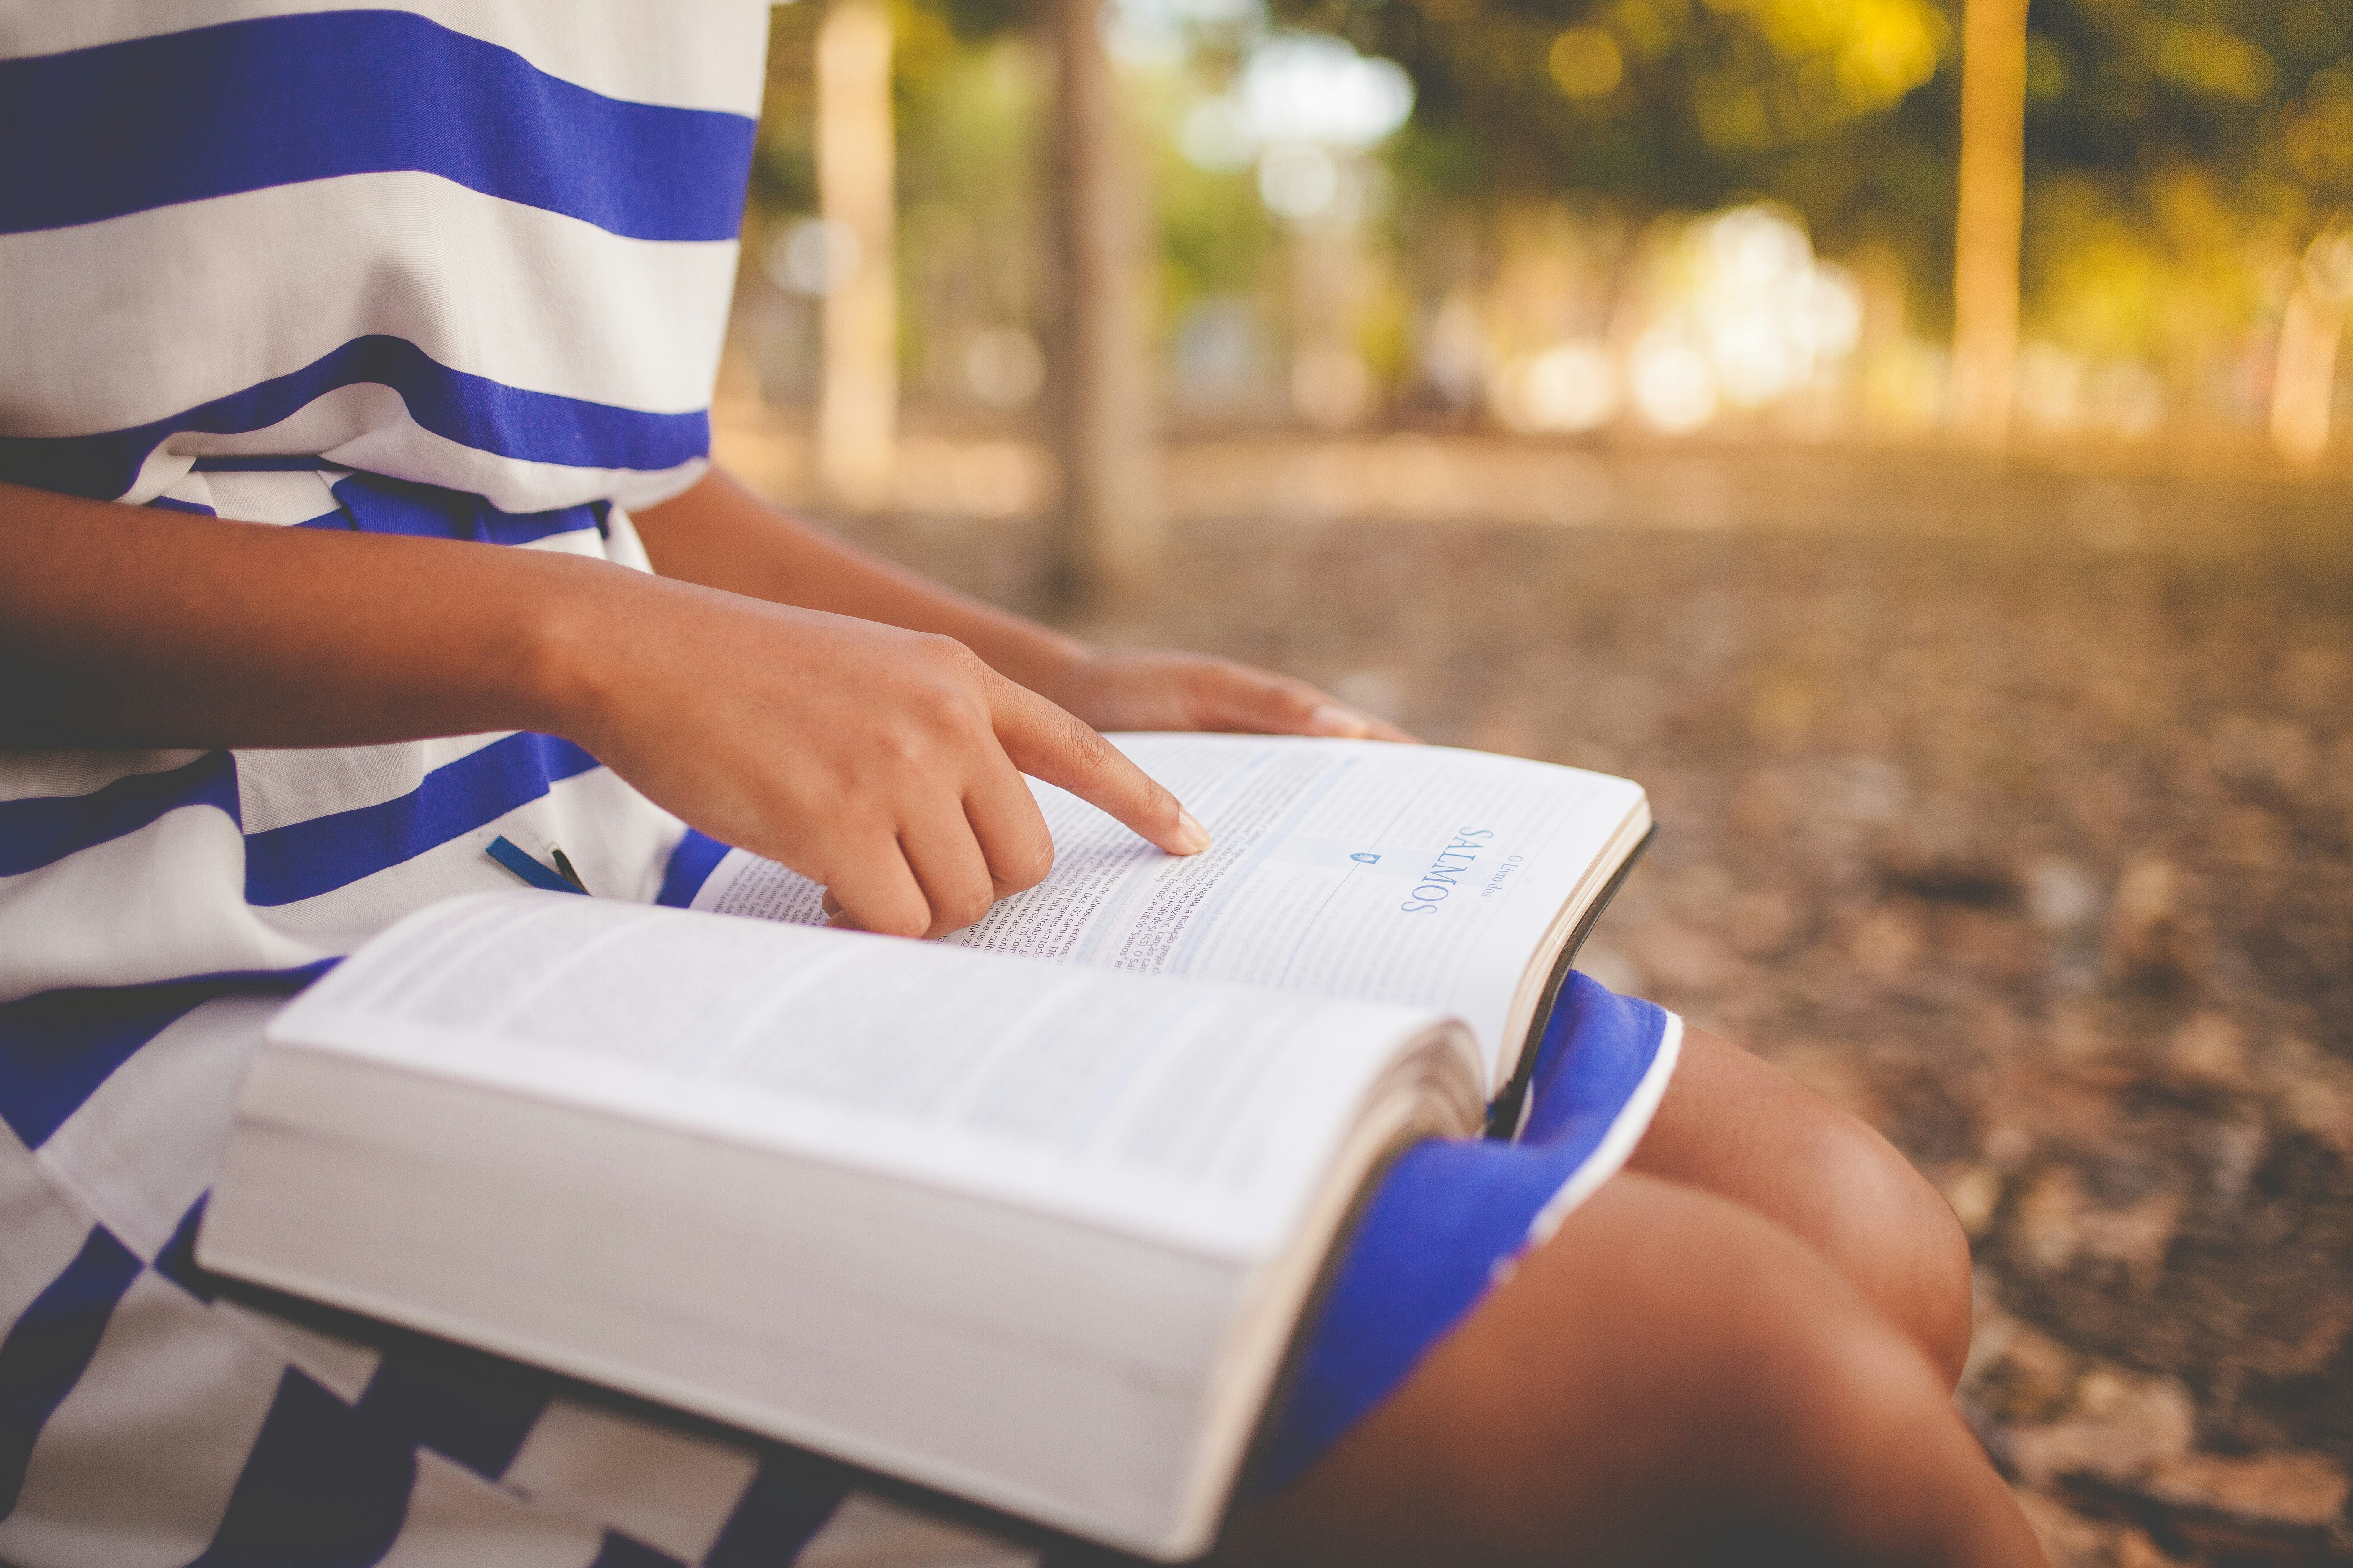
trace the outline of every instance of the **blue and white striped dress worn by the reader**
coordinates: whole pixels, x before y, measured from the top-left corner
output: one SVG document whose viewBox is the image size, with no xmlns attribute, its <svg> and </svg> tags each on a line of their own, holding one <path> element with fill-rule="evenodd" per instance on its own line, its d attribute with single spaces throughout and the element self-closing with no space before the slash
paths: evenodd
<svg viewBox="0 0 2353 1568">
<path fill-rule="evenodd" d="M 0 0 L 0 480 L 645 569 L 628 508 L 706 465 L 765 26 Z M 664 903 L 720 853 L 551 736 L 0 750 L 0 1563 L 774 1568 L 892 1528 L 814 1455 L 195 1269 L 271 1011 L 400 914 L 511 886 L 501 835 Z M 1254 1490 L 1626 1159 L 1678 1039 L 1577 978 L 1527 1143 L 1393 1168 Z"/>
</svg>

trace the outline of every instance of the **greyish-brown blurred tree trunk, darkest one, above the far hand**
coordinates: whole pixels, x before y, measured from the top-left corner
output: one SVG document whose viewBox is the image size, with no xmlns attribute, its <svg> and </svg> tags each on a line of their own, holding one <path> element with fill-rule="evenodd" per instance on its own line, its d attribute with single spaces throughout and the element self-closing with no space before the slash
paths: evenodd
<svg viewBox="0 0 2353 1568">
<path fill-rule="evenodd" d="M 1141 588 L 1160 552 L 1148 214 L 1104 49 L 1104 0 L 1045 5 L 1054 52 L 1047 407 L 1061 463 L 1056 576 L 1066 597 L 1099 602 Z"/>
</svg>

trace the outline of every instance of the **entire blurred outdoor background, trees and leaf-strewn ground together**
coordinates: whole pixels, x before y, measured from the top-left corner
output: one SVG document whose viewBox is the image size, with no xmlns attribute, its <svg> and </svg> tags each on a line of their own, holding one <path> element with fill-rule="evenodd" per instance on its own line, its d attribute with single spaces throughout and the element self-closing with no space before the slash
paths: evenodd
<svg viewBox="0 0 2353 1568">
<path fill-rule="evenodd" d="M 2353 1561 L 2353 5 L 774 16 L 729 468 L 1640 778 L 1584 966 L 1939 1182 L 2054 1561 Z"/>
</svg>

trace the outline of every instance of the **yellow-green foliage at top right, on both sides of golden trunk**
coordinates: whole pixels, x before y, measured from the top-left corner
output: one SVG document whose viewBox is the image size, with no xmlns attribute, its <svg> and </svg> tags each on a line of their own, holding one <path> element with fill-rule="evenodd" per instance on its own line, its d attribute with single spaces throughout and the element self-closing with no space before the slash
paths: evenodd
<svg viewBox="0 0 2353 1568">
<path fill-rule="evenodd" d="M 1929 301 L 1948 277 L 1960 0 L 1278 5 L 1412 73 L 1395 169 L 1426 197 L 1762 195 Z M 2245 315 L 2353 200 L 2353 5 L 2035 0 L 2028 26 L 2028 299 L 2082 348 L 2148 339 L 2165 301 Z"/>
</svg>

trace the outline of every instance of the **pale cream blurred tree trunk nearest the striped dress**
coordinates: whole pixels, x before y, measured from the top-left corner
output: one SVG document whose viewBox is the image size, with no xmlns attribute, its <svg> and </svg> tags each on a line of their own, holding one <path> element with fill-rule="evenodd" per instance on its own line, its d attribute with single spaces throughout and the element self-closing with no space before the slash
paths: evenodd
<svg viewBox="0 0 2353 1568">
<path fill-rule="evenodd" d="M 889 503 L 899 425 L 889 54 L 878 0 L 833 0 L 816 31 L 816 205 L 828 223 L 816 473 L 861 510 Z"/>
</svg>

